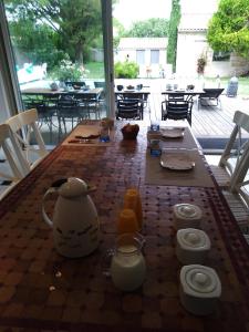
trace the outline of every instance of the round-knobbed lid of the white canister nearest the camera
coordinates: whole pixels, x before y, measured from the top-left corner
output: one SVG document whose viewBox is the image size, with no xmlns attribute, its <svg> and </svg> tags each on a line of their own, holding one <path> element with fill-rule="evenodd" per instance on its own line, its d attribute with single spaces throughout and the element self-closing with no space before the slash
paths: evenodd
<svg viewBox="0 0 249 332">
<path fill-rule="evenodd" d="M 180 270 L 180 282 L 186 293 L 198 298 L 218 298 L 221 284 L 216 271 L 209 267 L 190 264 Z"/>
</svg>

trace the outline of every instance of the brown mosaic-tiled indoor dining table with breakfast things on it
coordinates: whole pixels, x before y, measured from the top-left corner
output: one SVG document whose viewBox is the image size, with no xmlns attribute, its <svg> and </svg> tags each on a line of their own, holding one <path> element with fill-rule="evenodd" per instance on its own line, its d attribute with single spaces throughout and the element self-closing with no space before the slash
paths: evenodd
<svg viewBox="0 0 249 332">
<path fill-rule="evenodd" d="M 86 121 L 76 127 L 77 134 L 84 133 L 84 125 L 87 133 L 91 125 L 94 131 L 98 126 Z M 0 203 L 0 326 L 21 331 L 247 331 L 249 249 L 190 129 L 186 128 L 183 138 L 165 141 L 164 148 L 183 147 L 197 154 L 206 181 L 187 184 L 176 175 L 176 183 L 167 183 L 166 177 L 159 185 L 146 176 L 151 165 L 147 127 L 139 123 L 137 139 L 124 141 L 123 125 L 112 131 L 107 144 L 97 138 L 93 144 L 64 142 Z M 74 136 L 75 132 L 70 137 Z M 158 157 L 154 160 L 159 163 Z M 55 251 L 52 230 L 41 214 L 46 189 L 68 177 L 96 186 L 91 197 L 100 217 L 101 242 L 92 255 L 77 259 Z M 143 286 L 126 293 L 103 273 L 103 258 L 114 246 L 117 215 L 128 186 L 139 186 L 147 272 Z M 193 315 L 180 304 L 183 266 L 175 255 L 173 227 L 173 206 L 179 203 L 201 208 L 201 227 L 211 241 L 206 264 L 219 276 L 222 293 L 208 317 Z M 50 215 L 53 207 L 51 199 Z"/>
</svg>

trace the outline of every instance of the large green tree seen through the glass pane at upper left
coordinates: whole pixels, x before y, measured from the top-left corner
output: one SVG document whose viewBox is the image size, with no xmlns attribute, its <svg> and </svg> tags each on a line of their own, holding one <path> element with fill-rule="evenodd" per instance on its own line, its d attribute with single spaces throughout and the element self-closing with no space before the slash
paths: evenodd
<svg viewBox="0 0 249 332">
<path fill-rule="evenodd" d="M 80 64 L 83 64 L 84 48 L 102 32 L 100 0 L 8 0 L 6 8 L 17 24 L 31 20 L 50 27 L 56 49 Z"/>
</svg>

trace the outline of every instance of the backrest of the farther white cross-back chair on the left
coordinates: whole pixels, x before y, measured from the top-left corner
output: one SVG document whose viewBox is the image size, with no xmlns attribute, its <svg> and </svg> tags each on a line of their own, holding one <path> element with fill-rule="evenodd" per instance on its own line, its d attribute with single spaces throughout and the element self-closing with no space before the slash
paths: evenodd
<svg viewBox="0 0 249 332">
<path fill-rule="evenodd" d="M 21 112 L 6 122 L 11 127 L 22 149 L 25 159 L 23 167 L 27 173 L 34 168 L 48 155 L 37 122 L 38 111 L 35 108 Z M 31 144 L 31 135 L 32 139 L 35 141 L 35 145 Z"/>
</svg>

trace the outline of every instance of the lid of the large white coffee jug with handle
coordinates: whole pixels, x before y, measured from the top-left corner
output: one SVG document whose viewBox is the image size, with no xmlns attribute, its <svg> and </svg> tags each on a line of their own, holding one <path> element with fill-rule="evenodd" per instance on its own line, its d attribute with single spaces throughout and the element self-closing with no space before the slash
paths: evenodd
<svg viewBox="0 0 249 332">
<path fill-rule="evenodd" d="M 69 177 L 58 191 L 63 197 L 76 197 L 87 194 L 89 187 L 84 180 L 76 177 Z"/>
</svg>

